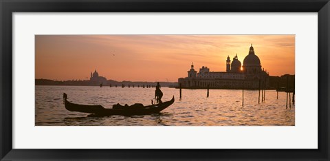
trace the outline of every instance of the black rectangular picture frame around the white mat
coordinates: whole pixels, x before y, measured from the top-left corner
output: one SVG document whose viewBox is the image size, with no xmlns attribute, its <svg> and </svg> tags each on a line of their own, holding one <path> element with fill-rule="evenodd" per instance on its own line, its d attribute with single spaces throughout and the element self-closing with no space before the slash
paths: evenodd
<svg viewBox="0 0 330 161">
<path fill-rule="evenodd" d="M 329 0 L 1 0 L 0 10 L 1 160 L 329 160 Z M 318 149 L 12 149 L 13 12 L 318 12 Z"/>
</svg>

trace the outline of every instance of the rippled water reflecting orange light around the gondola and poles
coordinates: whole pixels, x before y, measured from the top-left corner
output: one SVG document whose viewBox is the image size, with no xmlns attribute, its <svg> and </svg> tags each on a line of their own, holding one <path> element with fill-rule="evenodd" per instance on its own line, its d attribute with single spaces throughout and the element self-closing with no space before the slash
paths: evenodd
<svg viewBox="0 0 330 161">
<path fill-rule="evenodd" d="M 175 96 L 175 103 L 161 114 L 145 116 L 91 117 L 89 114 L 67 111 L 63 92 L 72 103 L 112 105 L 142 103 L 151 105 L 155 88 L 36 86 L 36 126 L 274 126 L 295 125 L 295 107 L 285 109 L 286 94 L 266 91 L 265 103 L 258 104 L 258 91 L 210 89 L 179 89 L 162 87 L 163 101 Z M 289 105 L 288 105 L 289 106 Z"/>
</svg>

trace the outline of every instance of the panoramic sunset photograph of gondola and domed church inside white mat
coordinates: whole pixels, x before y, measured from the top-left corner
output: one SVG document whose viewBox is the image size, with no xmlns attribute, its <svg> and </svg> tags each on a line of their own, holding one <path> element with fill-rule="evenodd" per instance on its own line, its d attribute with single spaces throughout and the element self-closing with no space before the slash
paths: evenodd
<svg viewBox="0 0 330 161">
<path fill-rule="evenodd" d="M 295 35 L 35 35 L 35 126 L 295 126 Z"/>
</svg>

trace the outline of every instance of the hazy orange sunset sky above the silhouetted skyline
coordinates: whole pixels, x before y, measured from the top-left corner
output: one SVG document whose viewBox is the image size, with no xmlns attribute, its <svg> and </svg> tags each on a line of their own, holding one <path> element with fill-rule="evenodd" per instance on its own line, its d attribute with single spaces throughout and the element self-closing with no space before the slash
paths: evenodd
<svg viewBox="0 0 330 161">
<path fill-rule="evenodd" d="M 36 35 L 36 78 L 85 80 L 94 69 L 115 81 L 170 81 L 224 72 L 227 56 L 243 65 L 251 43 L 271 76 L 294 74 L 294 35 Z"/>
</svg>

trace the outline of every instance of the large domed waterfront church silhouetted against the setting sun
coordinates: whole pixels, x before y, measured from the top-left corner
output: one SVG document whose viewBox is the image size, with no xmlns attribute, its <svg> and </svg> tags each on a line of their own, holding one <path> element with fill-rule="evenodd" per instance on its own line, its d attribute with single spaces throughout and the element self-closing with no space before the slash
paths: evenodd
<svg viewBox="0 0 330 161">
<path fill-rule="evenodd" d="M 202 66 L 199 72 L 192 64 L 186 78 L 179 78 L 183 88 L 207 88 L 211 89 L 259 89 L 259 81 L 261 86 L 265 82 L 265 87 L 269 87 L 269 74 L 261 69 L 261 61 L 254 53 L 254 47 L 251 44 L 249 54 L 245 56 L 243 65 L 236 54 L 230 61 L 230 57 L 226 60 L 225 72 L 210 72 L 210 68 Z"/>
</svg>

